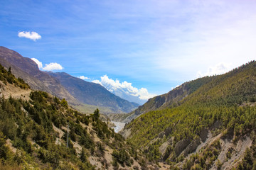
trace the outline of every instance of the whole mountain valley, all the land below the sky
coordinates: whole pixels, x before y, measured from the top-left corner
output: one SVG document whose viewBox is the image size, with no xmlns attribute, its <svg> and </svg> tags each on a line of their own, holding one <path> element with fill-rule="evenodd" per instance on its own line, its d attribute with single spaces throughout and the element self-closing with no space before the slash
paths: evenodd
<svg viewBox="0 0 256 170">
<path fill-rule="evenodd" d="M 0 57 L 0 169 L 256 168 L 255 61 L 139 106 L 4 47 Z"/>
</svg>

